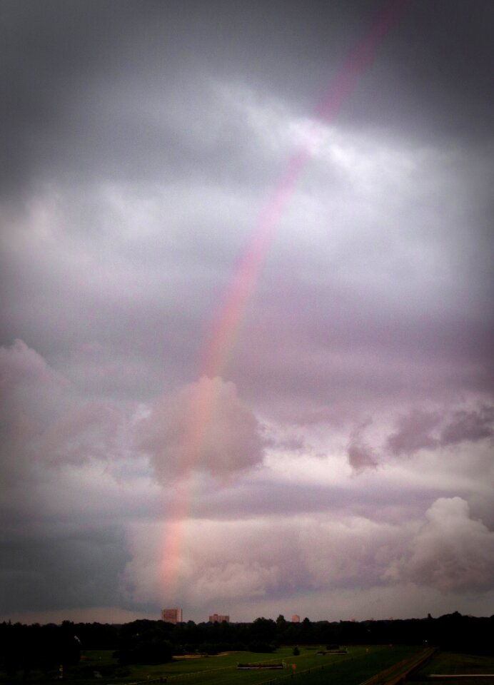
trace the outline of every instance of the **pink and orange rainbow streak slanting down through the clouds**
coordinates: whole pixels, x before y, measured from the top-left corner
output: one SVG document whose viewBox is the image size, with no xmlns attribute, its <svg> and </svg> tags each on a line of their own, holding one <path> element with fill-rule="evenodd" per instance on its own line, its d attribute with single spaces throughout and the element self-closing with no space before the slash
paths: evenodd
<svg viewBox="0 0 494 685">
<path fill-rule="evenodd" d="M 176 487 L 171 519 L 166 527 L 162 545 L 161 579 L 164 597 L 168 601 L 173 602 L 174 593 L 178 589 L 181 547 L 192 497 L 191 474 L 201 455 L 215 410 L 215 383 L 208 380 L 220 376 L 226 366 L 246 305 L 256 288 L 263 259 L 271 245 L 283 211 L 293 196 L 296 183 L 313 155 L 316 143 L 323 135 L 324 126 L 338 116 L 346 99 L 373 61 L 385 37 L 393 29 L 410 2 L 411 0 L 390 2 L 380 14 L 375 16 L 361 40 L 343 61 L 330 88 L 316 107 L 306 141 L 288 161 L 286 170 L 261 210 L 251 238 L 233 271 L 231 284 L 223 298 L 221 308 L 216 318 L 213 318 L 211 335 L 201 362 L 202 378 L 196 384 L 189 410 L 190 420 L 184 445 L 186 463 L 183 465 L 186 476 Z"/>
</svg>

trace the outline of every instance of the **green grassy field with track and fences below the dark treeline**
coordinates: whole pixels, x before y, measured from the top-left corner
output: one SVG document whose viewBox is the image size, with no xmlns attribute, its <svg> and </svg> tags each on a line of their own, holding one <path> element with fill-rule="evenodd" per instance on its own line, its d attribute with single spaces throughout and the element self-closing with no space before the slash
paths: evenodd
<svg viewBox="0 0 494 685">
<path fill-rule="evenodd" d="M 318 646 L 300 647 L 301 653 L 293 656 L 291 647 L 281 647 L 274 654 L 253 654 L 233 652 L 220 656 L 201 656 L 193 659 L 177 659 L 170 664 L 156 666 L 119 666 L 112 651 L 84 651 L 79 666 L 66 672 L 64 681 L 77 685 L 130 685 L 151 683 L 163 679 L 168 685 L 360 685 L 371 676 L 389 669 L 403 659 L 408 659 L 420 651 L 416 646 L 350 646 L 348 654 L 328 654 L 316 656 Z M 282 671 L 239 671 L 236 664 L 245 662 L 284 661 Z M 295 666 L 295 668 L 293 668 Z M 95 676 L 95 672 L 99 674 Z M 431 681 L 430 673 L 465 674 L 494 673 L 494 657 L 468 656 L 438 652 L 425 666 L 409 676 L 408 682 L 421 685 Z M 100 677 L 101 676 L 101 677 Z M 21 682 L 19 672 L 16 679 L 0 676 L 1 683 Z M 388 676 L 390 677 L 390 676 Z M 58 672 L 47 676 L 31 673 L 28 683 L 59 681 Z M 490 685 L 488 680 L 438 681 L 440 685 Z M 492 680 L 494 683 L 494 679 Z"/>
</svg>

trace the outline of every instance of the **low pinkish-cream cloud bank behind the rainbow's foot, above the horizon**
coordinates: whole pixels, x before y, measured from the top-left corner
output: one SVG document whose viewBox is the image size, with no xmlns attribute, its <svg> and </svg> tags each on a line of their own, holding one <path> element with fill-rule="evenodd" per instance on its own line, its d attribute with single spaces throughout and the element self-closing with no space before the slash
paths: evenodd
<svg viewBox="0 0 494 685">
<path fill-rule="evenodd" d="M 224 597 L 293 597 L 321 588 L 373 587 L 403 547 L 398 527 L 331 514 L 266 521 L 195 519 L 183 530 L 176 593 L 195 606 Z M 153 601 L 163 587 L 166 527 L 131 531 L 133 559 L 124 584 L 130 597 Z M 145 542 L 147 541 L 147 543 Z"/>
</svg>

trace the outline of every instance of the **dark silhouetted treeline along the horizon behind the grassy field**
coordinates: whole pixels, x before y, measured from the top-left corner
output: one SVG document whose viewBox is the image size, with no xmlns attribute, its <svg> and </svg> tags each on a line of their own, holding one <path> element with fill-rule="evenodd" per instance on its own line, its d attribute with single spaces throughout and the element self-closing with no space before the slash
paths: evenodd
<svg viewBox="0 0 494 685">
<path fill-rule="evenodd" d="M 173 625 L 138 620 L 122 625 L 72 623 L 61 625 L 0 624 L 0 669 L 48 672 L 60 664 L 79 663 L 81 651 L 111 649 L 125 664 L 158 664 L 179 654 L 218 654 L 246 650 L 271 652 L 281 644 L 430 644 L 443 649 L 492 654 L 494 616 L 477 618 L 458 612 L 437 619 L 386 621 L 286 621 L 258 618 L 252 623 Z"/>
</svg>

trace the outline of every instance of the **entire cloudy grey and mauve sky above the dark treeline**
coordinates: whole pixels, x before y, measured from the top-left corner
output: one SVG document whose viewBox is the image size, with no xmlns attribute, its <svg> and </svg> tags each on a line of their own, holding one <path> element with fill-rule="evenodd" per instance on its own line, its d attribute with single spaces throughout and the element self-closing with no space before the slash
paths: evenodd
<svg viewBox="0 0 494 685">
<path fill-rule="evenodd" d="M 0 620 L 494 614 L 492 1 L 0 17 Z"/>
</svg>

